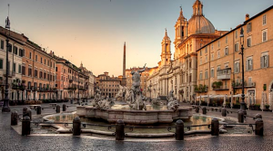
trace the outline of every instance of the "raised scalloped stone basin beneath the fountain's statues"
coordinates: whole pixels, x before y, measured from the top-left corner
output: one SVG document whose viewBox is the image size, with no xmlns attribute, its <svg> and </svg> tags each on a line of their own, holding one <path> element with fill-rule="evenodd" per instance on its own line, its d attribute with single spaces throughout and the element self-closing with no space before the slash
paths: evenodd
<svg viewBox="0 0 273 151">
<path fill-rule="evenodd" d="M 177 119 L 189 119 L 192 117 L 192 109 L 178 108 L 168 110 L 164 106 L 154 107 L 147 105 L 147 110 L 129 109 L 127 105 L 115 105 L 111 109 L 96 109 L 91 106 L 76 107 L 76 114 L 85 118 L 102 118 L 108 123 L 115 124 L 122 119 L 125 124 L 149 125 L 156 123 L 172 123 Z"/>
</svg>

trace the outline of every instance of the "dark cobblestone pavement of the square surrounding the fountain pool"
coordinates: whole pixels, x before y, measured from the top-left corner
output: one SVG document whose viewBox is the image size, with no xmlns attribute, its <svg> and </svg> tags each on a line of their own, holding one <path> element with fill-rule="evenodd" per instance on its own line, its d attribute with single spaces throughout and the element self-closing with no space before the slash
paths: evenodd
<svg viewBox="0 0 273 151">
<path fill-rule="evenodd" d="M 68 103 L 67 103 L 68 104 Z M 43 106 L 48 106 L 43 104 Z M 11 107 L 12 110 L 20 110 L 25 106 Z M 76 107 L 69 107 L 68 110 L 76 110 Z M 231 109 L 229 109 L 231 110 Z M 236 111 L 237 109 L 232 109 Z M 42 113 L 53 113 L 54 109 L 44 109 Z M 141 142 L 115 141 L 105 139 L 95 139 L 93 137 L 72 137 L 72 136 L 47 136 L 22 137 L 10 127 L 10 113 L 0 113 L 0 150 L 20 151 L 20 150 L 272 150 L 273 147 L 273 113 L 261 111 L 248 111 L 249 116 L 261 113 L 265 122 L 265 136 L 225 136 L 208 137 L 201 139 L 187 139 L 184 141 L 147 141 Z M 35 111 L 33 111 L 35 115 Z M 207 115 L 220 115 L 220 112 L 209 111 Z M 237 114 L 228 114 L 237 118 Z M 252 118 L 247 119 L 249 123 L 254 123 Z M 174 139 L 173 139 L 174 140 Z"/>
</svg>

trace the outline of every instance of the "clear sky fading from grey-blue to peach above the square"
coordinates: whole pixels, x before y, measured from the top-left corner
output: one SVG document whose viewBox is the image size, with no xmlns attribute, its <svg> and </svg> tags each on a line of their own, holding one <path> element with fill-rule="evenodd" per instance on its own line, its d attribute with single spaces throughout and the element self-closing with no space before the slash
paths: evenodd
<svg viewBox="0 0 273 151">
<path fill-rule="evenodd" d="M 95 75 L 122 75 L 126 69 L 156 67 L 167 28 L 171 41 L 180 8 L 190 19 L 196 0 L 0 0 L 0 25 L 10 4 L 11 30 L 24 33 L 47 52 L 53 51 Z M 203 13 L 217 30 L 229 31 L 273 5 L 272 0 L 201 0 Z M 174 53 L 174 44 L 171 52 Z"/>
</svg>

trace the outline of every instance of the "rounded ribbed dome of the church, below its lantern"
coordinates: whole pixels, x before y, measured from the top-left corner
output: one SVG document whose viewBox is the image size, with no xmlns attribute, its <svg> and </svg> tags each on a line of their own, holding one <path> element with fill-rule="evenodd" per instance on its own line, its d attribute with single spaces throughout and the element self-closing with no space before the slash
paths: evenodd
<svg viewBox="0 0 273 151">
<path fill-rule="evenodd" d="M 193 15 L 188 20 L 187 34 L 215 33 L 214 25 L 204 15 Z"/>
</svg>

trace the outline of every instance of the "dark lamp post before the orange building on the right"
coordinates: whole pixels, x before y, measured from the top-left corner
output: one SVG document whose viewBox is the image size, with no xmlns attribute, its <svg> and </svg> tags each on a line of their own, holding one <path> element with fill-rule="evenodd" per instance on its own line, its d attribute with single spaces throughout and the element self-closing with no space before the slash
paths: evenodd
<svg viewBox="0 0 273 151">
<path fill-rule="evenodd" d="M 246 103 L 245 103 L 245 69 L 244 69 L 244 29 L 241 27 L 240 31 L 240 44 L 241 44 L 241 52 L 239 54 L 242 55 L 242 101 L 240 103 L 240 109 L 243 111 L 244 115 L 247 115 L 246 111 Z"/>
</svg>

